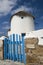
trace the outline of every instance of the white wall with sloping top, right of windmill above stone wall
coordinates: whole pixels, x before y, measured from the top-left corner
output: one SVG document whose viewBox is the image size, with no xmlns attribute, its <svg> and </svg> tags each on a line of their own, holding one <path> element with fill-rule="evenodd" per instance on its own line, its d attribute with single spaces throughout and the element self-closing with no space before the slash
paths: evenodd
<svg viewBox="0 0 43 65">
<path fill-rule="evenodd" d="M 43 29 L 29 32 L 25 36 L 25 38 L 33 38 L 33 37 L 39 39 L 38 45 L 43 45 L 43 39 L 41 38 L 43 37 Z"/>
</svg>

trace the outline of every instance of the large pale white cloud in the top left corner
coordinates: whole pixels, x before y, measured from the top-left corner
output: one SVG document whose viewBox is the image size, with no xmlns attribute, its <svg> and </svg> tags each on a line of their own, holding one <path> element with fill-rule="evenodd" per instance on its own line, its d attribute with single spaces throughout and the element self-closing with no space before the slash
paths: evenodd
<svg viewBox="0 0 43 65">
<path fill-rule="evenodd" d="M 17 0 L 0 0 L 0 16 L 8 14 L 16 2 Z"/>
</svg>

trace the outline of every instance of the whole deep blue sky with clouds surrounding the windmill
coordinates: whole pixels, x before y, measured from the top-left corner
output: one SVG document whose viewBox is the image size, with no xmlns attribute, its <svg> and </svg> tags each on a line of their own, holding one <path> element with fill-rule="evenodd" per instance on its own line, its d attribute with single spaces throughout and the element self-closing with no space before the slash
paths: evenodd
<svg viewBox="0 0 43 65">
<path fill-rule="evenodd" d="M 35 16 L 35 30 L 43 29 L 43 0 L 0 0 L 0 36 L 7 35 L 10 17 L 21 10 Z"/>
</svg>

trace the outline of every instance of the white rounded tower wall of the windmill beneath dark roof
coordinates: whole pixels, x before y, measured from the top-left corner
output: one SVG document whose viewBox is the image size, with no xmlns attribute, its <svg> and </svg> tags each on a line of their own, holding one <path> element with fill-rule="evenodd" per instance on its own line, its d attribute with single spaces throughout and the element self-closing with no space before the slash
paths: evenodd
<svg viewBox="0 0 43 65">
<path fill-rule="evenodd" d="M 34 20 L 32 17 L 27 16 L 23 19 L 20 16 L 13 16 L 11 20 L 11 33 L 28 33 L 34 30 Z"/>
</svg>

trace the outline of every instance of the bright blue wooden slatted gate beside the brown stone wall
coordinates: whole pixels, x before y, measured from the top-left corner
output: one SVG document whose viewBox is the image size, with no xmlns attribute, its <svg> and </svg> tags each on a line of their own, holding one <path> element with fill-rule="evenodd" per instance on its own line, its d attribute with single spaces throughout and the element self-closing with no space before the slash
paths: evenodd
<svg viewBox="0 0 43 65">
<path fill-rule="evenodd" d="M 4 59 L 26 64 L 24 35 L 12 34 L 4 39 Z"/>
</svg>

